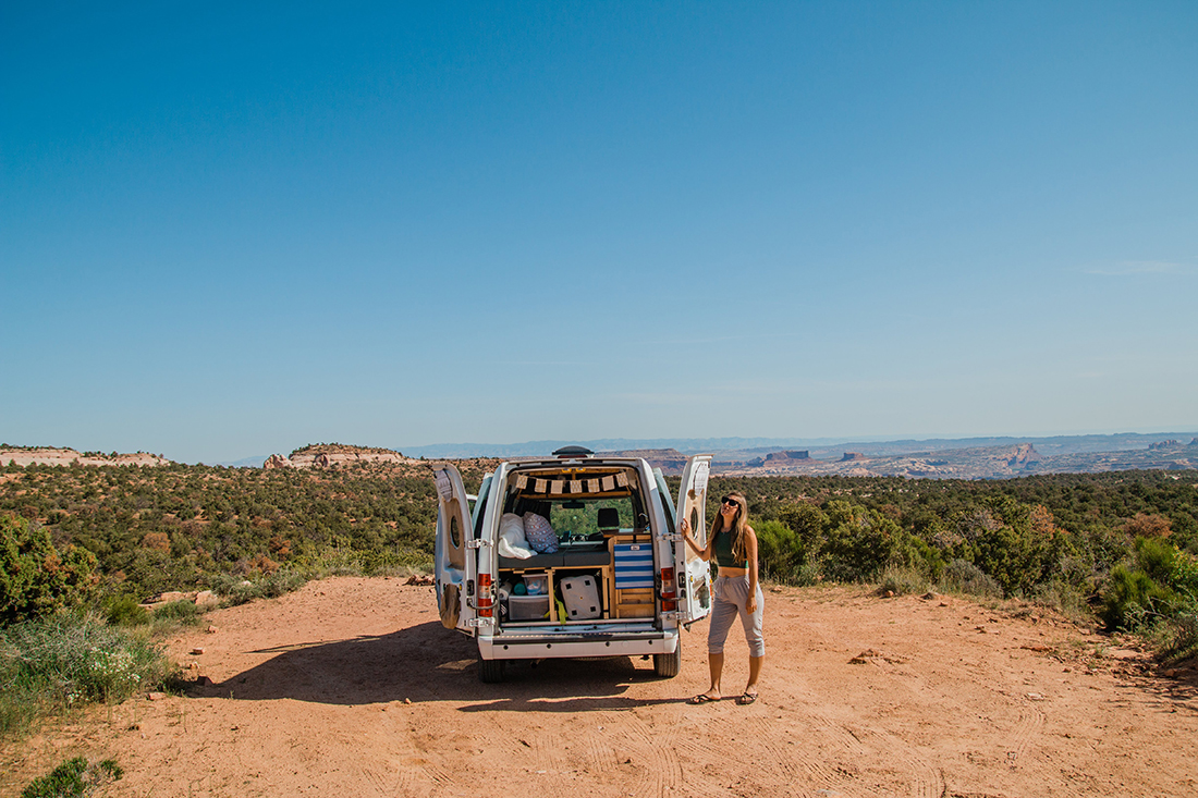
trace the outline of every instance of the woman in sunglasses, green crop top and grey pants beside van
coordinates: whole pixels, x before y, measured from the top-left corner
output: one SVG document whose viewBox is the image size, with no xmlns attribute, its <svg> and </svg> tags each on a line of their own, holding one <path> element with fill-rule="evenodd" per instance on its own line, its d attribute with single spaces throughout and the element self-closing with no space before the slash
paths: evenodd
<svg viewBox="0 0 1198 798">
<path fill-rule="evenodd" d="M 690 521 L 679 525 L 686 545 L 709 562 L 715 557 L 719 576 L 713 593 L 712 625 L 707 630 L 707 657 L 712 670 L 712 687 L 700 693 L 690 703 L 707 703 L 720 700 L 720 676 L 724 673 L 724 641 L 732 627 L 732 618 L 740 616 L 749 642 L 749 683 L 737 703 L 749 705 L 757 700 L 757 677 L 766 659 L 766 640 L 761 634 L 762 604 L 764 596 L 757 580 L 757 534 L 748 524 L 749 504 L 744 494 L 733 492 L 720 500 L 720 513 L 712 522 L 707 548 L 700 549 L 690 537 Z"/>
</svg>

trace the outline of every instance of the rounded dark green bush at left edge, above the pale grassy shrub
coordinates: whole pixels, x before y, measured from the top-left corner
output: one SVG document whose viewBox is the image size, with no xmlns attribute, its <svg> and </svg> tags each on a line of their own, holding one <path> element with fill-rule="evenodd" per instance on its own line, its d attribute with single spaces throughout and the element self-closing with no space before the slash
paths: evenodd
<svg viewBox="0 0 1198 798">
<path fill-rule="evenodd" d="M 0 623 L 75 606 L 96 585 L 96 557 L 54 548 L 49 531 L 19 515 L 0 516 Z"/>
</svg>

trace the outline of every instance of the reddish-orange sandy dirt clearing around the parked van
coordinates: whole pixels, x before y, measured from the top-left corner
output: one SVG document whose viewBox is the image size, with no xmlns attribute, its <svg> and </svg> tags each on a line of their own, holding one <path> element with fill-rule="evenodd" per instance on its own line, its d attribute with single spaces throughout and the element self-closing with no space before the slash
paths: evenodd
<svg viewBox="0 0 1198 798">
<path fill-rule="evenodd" d="M 484 685 L 430 588 L 314 582 L 170 641 L 211 685 L 5 749 L 0 792 L 84 755 L 125 768 L 107 794 L 139 797 L 1198 794 L 1193 671 L 956 598 L 786 588 L 766 612 L 761 700 L 695 707 L 706 624 L 673 679 L 619 659 Z M 743 639 L 728 660 L 734 695 Z"/>
</svg>

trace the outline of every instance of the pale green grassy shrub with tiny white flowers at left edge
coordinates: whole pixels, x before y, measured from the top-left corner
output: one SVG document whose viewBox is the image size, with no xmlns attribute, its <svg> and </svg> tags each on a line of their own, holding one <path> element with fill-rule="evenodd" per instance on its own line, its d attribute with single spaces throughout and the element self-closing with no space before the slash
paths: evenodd
<svg viewBox="0 0 1198 798">
<path fill-rule="evenodd" d="M 168 672 L 162 651 L 90 615 L 60 613 L 0 629 L 0 734 L 91 701 L 121 701 Z"/>
</svg>

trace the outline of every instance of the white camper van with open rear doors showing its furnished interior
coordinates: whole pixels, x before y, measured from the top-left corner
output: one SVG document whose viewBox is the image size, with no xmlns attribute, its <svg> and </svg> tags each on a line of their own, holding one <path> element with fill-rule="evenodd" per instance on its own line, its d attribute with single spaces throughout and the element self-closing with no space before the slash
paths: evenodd
<svg viewBox="0 0 1198 798">
<path fill-rule="evenodd" d="M 677 531 L 689 518 L 703 545 L 710 459 L 688 461 L 677 501 L 643 459 L 574 446 L 500 464 L 477 497 L 438 467 L 437 609 L 478 641 L 479 678 L 501 681 L 507 660 L 649 654 L 676 676 L 679 630 L 712 604 L 708 564 Z M 500 537 L 513 516 L 551 530 L 556 551 L 514 550 Z"/>
</svg>

